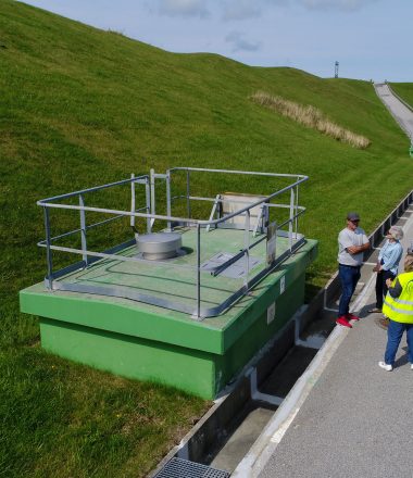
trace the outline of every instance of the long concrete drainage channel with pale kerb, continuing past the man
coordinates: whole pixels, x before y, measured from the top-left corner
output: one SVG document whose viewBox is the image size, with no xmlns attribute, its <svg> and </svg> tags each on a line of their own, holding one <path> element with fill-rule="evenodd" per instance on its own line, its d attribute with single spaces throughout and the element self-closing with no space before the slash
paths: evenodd
<svg viewBox="0 0 413 478">
<path fill-rule="evenodd" d="M 413 209 L 409 209 L 412 201 L 413 191 L 370 236 L 374 249 L 365 257 L 367 267 L 362 268 L 355 307 L 363 300 L 368 280 L 372 280 L 371 264 L 375 262 L 385 231 L 399 219 L 405 219 L 403 214 L 413 214 Z M 312 302 L 302 306 L 251 360 L 179 445 L 171 450 L 149 476 L 227 478 L 234 470 L 234 477 L 250 476 L 247 462 L 249 456 L 256 458 L 262 453 L 258 450 L 259 437 L 268 427 L 270 420 L 273 446 L 276 446 L 274 427 L 279 428 L 280 440 L 293 419 L 291 411 L 295 405 L 309 393 L 306 381 L 310 375 L 321 374 L 345 337 L 339 334 L 339 328 L 334 328 L 338 294 L 339 280 L 335 274 Z"/>
</svg>

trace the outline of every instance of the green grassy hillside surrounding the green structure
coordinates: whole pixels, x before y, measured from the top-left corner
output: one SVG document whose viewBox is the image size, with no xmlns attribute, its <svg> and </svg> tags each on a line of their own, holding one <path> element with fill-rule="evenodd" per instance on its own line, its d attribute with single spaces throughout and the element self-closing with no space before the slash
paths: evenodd
<svg viewBox="0 0 413 478">
<path fill-rule="evenodd" d="M 250 99 L 258 90 L 314 105 L 372 144 L 358 150 L 266 110 Z M 412 185 L 400 174 L 411 171 L 408 140 L 368 83 L 173 54 L 9 0 L 0 0 L 0 91 L 4 476 L 145 476 L 208 406 L 40 350 L 37 320 L 17 304 L 46 273 L 38 199 L 150 167 L 305 174 L 302 228 L 320 240 L 310 274 L 320 286 L 336 267 L 346 212 L 358 210 L 370 230 Z"/>
</svg>

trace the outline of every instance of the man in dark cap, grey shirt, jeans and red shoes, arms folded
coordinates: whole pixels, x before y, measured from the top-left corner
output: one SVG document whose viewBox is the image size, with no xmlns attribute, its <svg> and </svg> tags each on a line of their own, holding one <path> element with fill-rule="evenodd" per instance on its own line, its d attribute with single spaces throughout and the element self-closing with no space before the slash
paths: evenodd
<svg viewBox="0 0 413 478">
<path fill-rule="evenodd" d="M 349 304 L 360 279 L 360 267 L 363 263 L 363 252 L 370 249 L 368 238 L 359 227 L 358 213 L 347 215 L 347 227 L 338 235 L 338 275 L 342 293 L 340 298 L 336 323 L 343 327 L 352 327 L 349 320 L 359 320 L 350 314 Z"/>
</svg>

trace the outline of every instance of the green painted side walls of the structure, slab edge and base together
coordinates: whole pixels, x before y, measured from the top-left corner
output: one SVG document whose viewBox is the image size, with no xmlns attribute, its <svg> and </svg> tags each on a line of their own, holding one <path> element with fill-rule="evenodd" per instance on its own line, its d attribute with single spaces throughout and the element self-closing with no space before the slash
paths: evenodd
<svg viewBox="0 0 413 478">
<path fill-rule="evenodd" d="M 303 303 L 315 255 L 309 240 L 250 294 L 203 322 L 126 299 L 48 292 L 41 284 L 21 292 L 21 307 L 42 317 L 41 344 L 51 353 L 213 399 Z"/>
</svg>

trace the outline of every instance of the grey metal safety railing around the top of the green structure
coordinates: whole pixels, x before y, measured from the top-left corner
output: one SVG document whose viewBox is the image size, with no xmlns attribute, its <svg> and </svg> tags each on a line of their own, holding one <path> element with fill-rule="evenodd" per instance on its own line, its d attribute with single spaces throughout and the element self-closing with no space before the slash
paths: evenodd
<svg viewBox="0 0 413 478">
<path fill-rule="evenodd" d="M 185 174 L 185 192 L 172 196 L 172 181 L 173 177 L 177 173 Z M 290 183 L 278 189 L 274 190 L 272 193 L 266 196 L 261 196 L 256 200 L 254 200 L 254 196 L 251 196 L 249 200 L 243 198 L 241 199 L 225 199 L 225 197 L 216 196 L 215 198 L 208 198 L 202 196 L 192 196 L 191 194 L 191 177 L 195 174 L 229 174 L 229 175 L 247 175 L 247 176 L 255 176 L 264 179 L 270 178 L 283 178 L 284 180 L 289 180 Z M 158 214 L 157 213 L 157 183 L 159 179 L 165 181 L 166 185 L 166 214 Z M 201 318 L 210 315 L 217 315 L 223 312 L 226 307 L 233 304 L 236 300 L 242 297 L 247 291 L 253 287 L 259 280 L 265 277 L 272 269 L 274 269 L 280 262 L 287 259 L 291 253 L 293 253 L 304 242 L 304 237 L 299 234 L 299 217 L 304 213 L 305 209 L 300 206 L 298 203 L 299 199 L 299 185 L 303 181 L 308 180 L 306 176 L 302 175 L 291 175 L 291 174 L 275 174 L 275 173 L 259 173 L 259 172 L 243 172 L 243 171 L 230 171 L 230 169 L 206 169 L 206 168 L 192 168 L 192 167 L 174 167 L 166 172 L 166 174 L 155 174 L 153 169 L 150 171 L 149 175 L 140 175 L 136 176 L 132 175 L 128 179 L 123 179 L 120 181 L 97 186 L 93 188 L 83 189 L 74 192 L 70 192 L 66 194 L 54 196 L 52 198 L 47 198 L 37 202 L 43 209 L 45 216 L 45 229 L 46 229 L 46 239 L 38 242 L 39 247 L 46 248 L 47 255 L 47 277 L 46 277 L 46 286 L 50 290 L 72 290 L 72 291 L 85 291 L 89 293 L 100 293 L 105 295 L 116 295 L 116 297 L 125 297 L 147 303 L 151 303 L 154 305 L 166 306 L 168 309 L 177 310 L 180 312 L 189 313 L 195 318 Z M 113 188 L 117 186 L 130 186 L 130 210 L 117 210 L 117 209 L 108 209 L 108 207 L 97 207 L 93 205 L 88 205 L 87 199 L 88 197 L 97 191 L 101 191 L 103 189 Z M 145 203 L 137 207 L 137 188 L 143 188 L 143 191 L 140 196 L 145 197 Z M 289 194 L 289 200 L 287 203 L 272 203 L 271 201 L 274 198 L 280 197 L 281 194 Z M 77 198 L 78 204 L 67 204 L 64 203 L 65 200 Z M 184 200 L 186 202 L 187 217 L 176 217 L 172 215 L 172 209 L 174 204 Z M 211 211 L 209 219 L 196 219 L 192 218 L 192 204 L 196 201 L 210 201 L 215 205 L 213 206 L 213 211 Z M 233 203 L 235 205 L 239 205 L 235 212 L 225 214 L 221 217 L 213 218 L 216 213 L 217 204 Z M 258 217 L 255 217 L 255 225 L 252 227 L 251 225 L 251 211 L 254 209 L 259 209 L 260 213 Z M 270 212 L 274 209 L 286 209 L 288 213 L 288 217 L 276 224 L 275 230 L 278 236 L 284 236 L 288 238 L 288 250 L 283 254 L 276 256 L 274 255 L 271 260 L 266 262 L 264 268 L 260 271 L 260 273 L 254 276 L 250 276 L 250 251 L 254 249 L 259 243 L 264 240 L 270 240 L 267 236 L 267 226 L 270 221 Z M 50 221 L 50 210 L 72 210 L 79 212 L 79 227 L 66 231 L 64 234 L 60 234 L 58 236 L 51 235 L 51 221 Z M 87 224 L 86 212 L 101 213 L 101 214 L 110 214 L 113 215 L 110 218 L 105 218 L 92 224 Z M 242 218 L 241 221 L 240 218 Z M 135 263 L 147 263 L 147 264 L 159 264 L 160 261 L 149 261 L 138 256 L 130 255 L 122 255 L 122 251 L 130 246 L 136 243 L 135 238 L 123 242 L 121 244 L 115 244 L 111 249 L 104 251 L 92 251 L 88 249 L 88 231 L 92 228 L 103 226 L 113 221 L 121 219 L 123 217 L 129 217 L 130 227 L 135 232 L 138 231 L 136 228 L 136 221 L 138 218 L 145 219 L 146 230 L 147 232 L 151 232 L 154 226 L 155 221 L 165 222 L 167 227 L 166 230 L 171 231 L 177 225 L 188 226 L 190 228 L 195 228 L 196 230 L 196 264 L 178 264 L 176 262 L 170 262 L 170 265 L 177 268 L 186 268 L 195 271 L 196 278 L 196 306 L 192 307 L 186 303 L 180 303 L 179 301 L 173 301 L 168 299 L 160 299 L 159 297 L 151 297 L 148 294 L 138 293 L 136 291 L 128 290 L 120 290 L 120 287 L 116 288 L 85 288 L 80 284 L 77 286 L 74 284 L 65 284 L 61 279 L 65 275 L 80 269 L 90 267 L 93 263 L 99 260 L 110 259 L 116 261 L 127 261 Z M 228 227 L 229 222 L 234 219 L 234 224 L 231 227 L 243 229 L 243 248 L 239 250 L 236 254 L 234 254 L 230 259 L 228 259 L 225 263 L 221 264 L 213 271 L 209 271 L 208 274 L 216 277 L 221 275 L 225 269 L 230 267 L 237 261 L 240 261 L 242 257 L 245 259 L 245 275 L 243 275 L 243 285 L 241 288 L 231 293 L 223 303 L 214 307 L 202 307 L 202 298 L 201 298 L 201 274 L 205 272 L 201 269 L 201 230 L 205 229 L 205 231 L 211 228 L 220 228 L 220 227 Z M 252 237 L 256 237 L 260 232 L 258 239 L 252 240 L 251 242 L 251 227 L 252 227 Z M 286 228 L 287 230 L 283 230 Z M 57 241 L 70 237 L 73 235 L 80 235 L 80 248 L 72 248 L 72 247 L 63 247 L 55 244 Z M 208 238 L 208 236 L 206 236 Z M 208 240 L 208 239 L 205 239 Z M 82 261 L 76 262 L 75 264 L 70 265 L 68 267 L 64 267 L 60 271 L 53 271 L 53 251 L 67 252 L 73 254 L 78 254 L 82 256 Z M 162 262 L 161 262 L 162 263 Z"/>
</svg>

